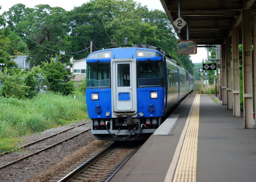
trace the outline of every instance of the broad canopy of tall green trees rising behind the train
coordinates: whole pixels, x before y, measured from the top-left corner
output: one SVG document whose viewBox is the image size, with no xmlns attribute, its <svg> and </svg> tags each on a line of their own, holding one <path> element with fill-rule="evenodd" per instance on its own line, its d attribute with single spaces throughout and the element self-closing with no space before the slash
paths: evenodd
<svg viewBox="0 0 256 182">
<path fill-rule="evenodd" d="M 5 43 L 8 45 L 5 53 L 12 54 L 15 50 L 27 53 L 30 65 L 50 63 L 55 54 L 52 50 L 76 52 L 89 47 L 90 41 L 93 41 L 93 50 L 97 50 L 122 45 L 124 38 L 128 37 L 132 45 L 147 43 L 160 47 L 191 74 L 194 71 L 190 56 L 177 54 L 178 39 L 166 13 L 148 10 L 133 0 L 91 0 L 70 12 L 44 4 L 34 8 L 16 4 L 3 15 L 18 31 L 51 49 L 40 47 L 2 22 L 2 35 L 6 38 L 3 41 L 8 42 Z M 89 53 L 87 49 L 73 56 L 80 59 Z M 66 54 L 60 61 L 69 62 L 69 58 L 70 55 Z"/>
</svg>

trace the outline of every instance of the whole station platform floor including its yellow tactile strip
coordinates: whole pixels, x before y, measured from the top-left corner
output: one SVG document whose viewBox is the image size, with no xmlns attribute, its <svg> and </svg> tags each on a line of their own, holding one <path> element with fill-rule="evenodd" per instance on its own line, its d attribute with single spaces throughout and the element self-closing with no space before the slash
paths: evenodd
<svg viewBox="0 0 256 182">
<path fill-rule="evenodd" d="M 221 103 L 188 95 L 110 181 L 256 181 L 256 130 Z"/>
</svg>

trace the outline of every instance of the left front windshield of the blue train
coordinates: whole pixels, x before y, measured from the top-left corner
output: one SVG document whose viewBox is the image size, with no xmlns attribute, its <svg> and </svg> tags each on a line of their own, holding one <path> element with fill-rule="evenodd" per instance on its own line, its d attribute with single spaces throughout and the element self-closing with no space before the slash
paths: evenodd
<svg viewBox="0 0 256 182">
<path fill-rule="evenodd" d="M 86 87 L 110 87 L 110 63 L 87 63 Z"/>
</svg>

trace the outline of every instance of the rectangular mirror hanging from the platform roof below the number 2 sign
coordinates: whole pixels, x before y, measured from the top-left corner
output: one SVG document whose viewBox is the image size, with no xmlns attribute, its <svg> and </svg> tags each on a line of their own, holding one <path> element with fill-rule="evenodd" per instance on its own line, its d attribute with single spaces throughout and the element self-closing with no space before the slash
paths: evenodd
<svg viewBox="0 0 256 182">
<path fill-rule="evenodd" d="M 178 54 L 196 54 L 197 41 L 196 40 L 179 40 L 178 41 Z"/>
</svg>

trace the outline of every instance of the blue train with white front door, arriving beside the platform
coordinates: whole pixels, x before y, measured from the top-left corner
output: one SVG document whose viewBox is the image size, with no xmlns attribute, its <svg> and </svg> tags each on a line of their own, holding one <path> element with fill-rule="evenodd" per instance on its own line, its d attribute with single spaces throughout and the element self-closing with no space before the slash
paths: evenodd
<svg viewBox="0 0 256 182">
<path fill-rule="evenodd" d="M 194 88 L 186 69 L 147 44 L 96 51 L 86 64 L 91 133 L 100 140 L 147 138 Z"/>
</svg>

